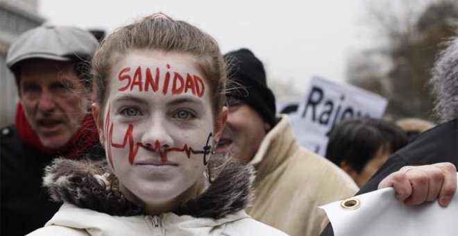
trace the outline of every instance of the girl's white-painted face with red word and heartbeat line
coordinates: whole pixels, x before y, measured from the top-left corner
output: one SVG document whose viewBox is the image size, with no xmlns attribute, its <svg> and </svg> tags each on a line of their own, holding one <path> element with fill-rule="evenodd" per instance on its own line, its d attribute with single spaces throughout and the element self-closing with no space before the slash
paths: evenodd
<svg viewBox="0 0 458 236">
<path fill-rule="evenodd" d="M 108 90 L 99 132 L 121 191 L 146 205 L 195 194 L 222 129 L 214 130 L 209 87 L 192 56 L 130 51 Z"/>
</svg>

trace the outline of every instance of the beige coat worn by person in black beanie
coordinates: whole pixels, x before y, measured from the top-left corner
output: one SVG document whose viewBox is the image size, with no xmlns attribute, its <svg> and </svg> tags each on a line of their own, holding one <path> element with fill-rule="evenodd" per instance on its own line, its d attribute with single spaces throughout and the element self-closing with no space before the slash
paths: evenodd
<svg viewBox="0 0 458 236">
<path fill-rule="evenodd" d="M 246 212 L 289 235 L 319 235 L 329 221 L 318 207 L 358 190 L 339 167 L 298 145 L 287 115 L 264 137 L 251 164 L 255 201 Z"/>
</svg>

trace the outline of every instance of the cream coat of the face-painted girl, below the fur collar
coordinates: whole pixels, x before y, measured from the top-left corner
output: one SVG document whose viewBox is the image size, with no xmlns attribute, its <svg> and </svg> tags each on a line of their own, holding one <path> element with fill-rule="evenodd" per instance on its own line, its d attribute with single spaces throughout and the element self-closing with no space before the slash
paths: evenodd
<svg viewBox="0 0 458 236">
<path fill-rule="evenodd" d="M 251 219 L 244 210 L 222 219 L 178 216 L 171 212 L 160 216 L 136 215 L 114 217 L 76 205 L 64 204 L 44 228 L 28 236 L 101 236 L 101 235 L 285 235 L 285 233 Z"/>
</svg>

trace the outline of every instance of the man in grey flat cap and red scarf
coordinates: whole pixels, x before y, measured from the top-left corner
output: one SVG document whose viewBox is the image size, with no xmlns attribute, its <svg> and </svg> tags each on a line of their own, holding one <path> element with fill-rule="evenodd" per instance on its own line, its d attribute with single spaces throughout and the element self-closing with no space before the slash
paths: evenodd
<svg viewBox="0 0 458 236">
<path fill-rule="evenodd" d="M 25 235 L 58 210 L 42 188 L 53 158 L 103 158 L 90 115 L 90 59 L 97 44 L 80 28 L 40 26 L 19 35 L 8 50 L 19 102 L 15 124 L 0 132 L 1 235 Z"/>
</svg>

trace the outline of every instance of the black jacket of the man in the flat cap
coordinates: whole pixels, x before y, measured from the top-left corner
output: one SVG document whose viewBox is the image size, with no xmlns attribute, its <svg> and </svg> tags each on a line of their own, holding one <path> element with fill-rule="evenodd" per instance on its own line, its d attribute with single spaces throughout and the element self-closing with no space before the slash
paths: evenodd
<svg viewBox="0 0 458 236">
<path fill-rule="evenodd" d="M 15 125 L 0 133 L 0 235 L 25 235 L 44 226 L 60 208 L 42 187 L 44 167 L 54 156 L 25 144 Z M 105 157 L 99 145 L 90 153 L 94 159 Z"/>
</svg>

